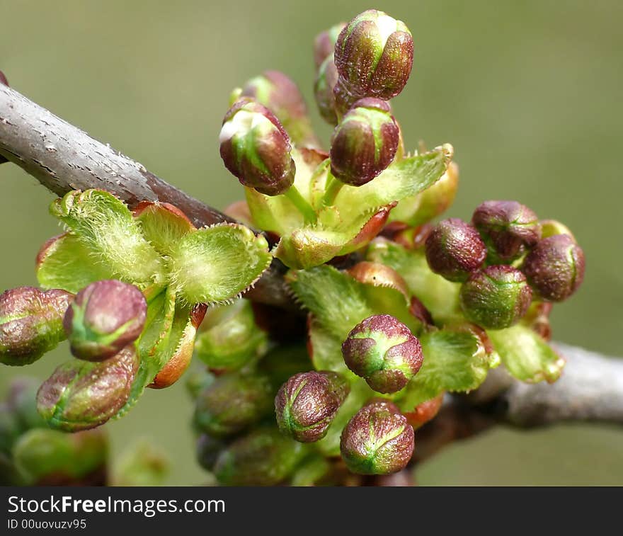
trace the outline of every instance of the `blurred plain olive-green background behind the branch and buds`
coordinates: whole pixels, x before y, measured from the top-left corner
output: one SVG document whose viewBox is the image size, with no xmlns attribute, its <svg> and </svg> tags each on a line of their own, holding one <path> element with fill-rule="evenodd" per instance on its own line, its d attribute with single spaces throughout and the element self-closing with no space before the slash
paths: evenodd
<svg viewBox="0 0 623 536">
<path fill-rule="evenodd" d="M 241 197 L 219 159 L 229 91 L 263 69 L 294 78 L 313 105 L 316 33 L 377 7 L 411 29 L 416 56 L 394 101 L 406 140 L 451 142 L 461 185 L 451 215 L 520 200 L 566 222 L 585 250 L 585 283 L 554 310 L 554 338 L 623 355 L 619 150 L 623 4 L 616 1 L 149 2 L 0 0 L 0 69 L 11 85 L 205 202 Z M 319 132 L 330 130 L 311 113 Z M 33 285 L 40 244 L 57 234 L 52 195 L 0 167 L 0 287 Z M 43 380 L 60 347 L 16 375 Z M 149 391 L 107 428 L 116 454 L 139 437 L 171 457 L 170 484 L 200 484 L 183 382 Z M 623 484 L 623 429 L 493 430 L 427 462 L 420 484 Z"/>
</svg>

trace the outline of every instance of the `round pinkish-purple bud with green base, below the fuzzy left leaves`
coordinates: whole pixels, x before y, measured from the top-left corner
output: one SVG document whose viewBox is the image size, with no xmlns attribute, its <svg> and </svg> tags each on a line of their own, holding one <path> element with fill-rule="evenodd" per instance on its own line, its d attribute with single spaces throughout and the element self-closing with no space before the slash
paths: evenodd
<svg viewBox="0 0 623 536">
<path fill-rule="evenodd" d="M 76 358 L 102 361 L 139 338 L 146 315 L 147 302 L 137 287 L 108 279 L 76 294 L 63 326 Z"/>
</svg>

